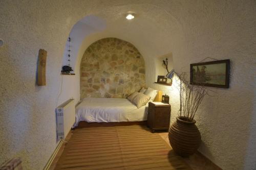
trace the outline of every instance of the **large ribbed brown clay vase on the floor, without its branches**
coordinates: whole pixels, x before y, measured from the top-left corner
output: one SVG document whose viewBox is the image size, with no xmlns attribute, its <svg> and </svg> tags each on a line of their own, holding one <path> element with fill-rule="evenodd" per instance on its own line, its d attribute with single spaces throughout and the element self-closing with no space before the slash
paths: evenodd
<svg viewBox="0 0 256 170">
<path fill-rule="evenodd" d="M 196 120 L 186 121 L 186 117 L 176 117 L 176 122 L 169 128 L 169 141 L 173 150 L 180 156 L 194 154 L 200 146 L 201 135 Z"/>
</svg>

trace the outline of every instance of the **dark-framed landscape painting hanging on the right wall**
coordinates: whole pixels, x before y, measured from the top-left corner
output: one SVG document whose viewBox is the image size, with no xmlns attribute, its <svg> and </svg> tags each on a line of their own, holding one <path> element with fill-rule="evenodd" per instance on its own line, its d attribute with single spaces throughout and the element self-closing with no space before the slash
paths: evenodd
<svg viewBox="0 0 256 170">
<path fill-rule="evenodd" d="M 228 88 L 230 60 L 190 64 L 190 84 Z"/>
</svg>

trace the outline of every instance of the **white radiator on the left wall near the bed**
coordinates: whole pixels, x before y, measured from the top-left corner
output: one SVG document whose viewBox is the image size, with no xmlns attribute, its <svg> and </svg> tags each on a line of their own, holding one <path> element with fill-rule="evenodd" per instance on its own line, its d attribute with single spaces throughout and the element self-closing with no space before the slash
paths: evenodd
<svg viewBox="0 0 256 170">
<path fill-rule="evenodd" d="M 57 140 L 65 139 L 75 123 L 74 99 L 59 105 L 56 108 L 57 117 Z"/>
</svg>

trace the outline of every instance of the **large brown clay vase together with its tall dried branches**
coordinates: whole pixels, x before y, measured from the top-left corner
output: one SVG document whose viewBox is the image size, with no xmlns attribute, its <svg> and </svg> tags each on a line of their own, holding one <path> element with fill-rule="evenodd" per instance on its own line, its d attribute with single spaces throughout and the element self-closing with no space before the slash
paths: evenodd
<svg viewBox="0 0 256 170">
<path fill-rule="evenodd" d="M 173 79 L 175 74 L 179 77 L 180 110 L 176 122 L 169 128 L 168 137 L 177 154 L 189 156 L 197 151 L 201 143 L 201 134 L 195 125 L 194 116 L 208 91 L 205 86 L 190 85 L 186 81 L 186 74 L 179 75 L 174 69 L 166 77 Z"/>
</svg>

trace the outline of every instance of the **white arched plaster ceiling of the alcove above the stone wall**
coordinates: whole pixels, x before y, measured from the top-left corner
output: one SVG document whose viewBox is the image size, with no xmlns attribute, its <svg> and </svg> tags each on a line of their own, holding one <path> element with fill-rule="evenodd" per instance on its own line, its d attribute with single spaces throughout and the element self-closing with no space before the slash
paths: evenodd
<svg viewBox="0 0 256 170">
<path fill-rule="evenodd" d="M 125 16 L 128 12 L 133 12 L 135 18 L 127 20 Z M 120 5 L 94 11 L 75 24 L 72 34 L 77 34 L 74 41 L 79 39 L 74 49 L 76 63 L 73 65 L 76 71 L 86 48 L 101 38 L 116 37 L 131 42 L 146 62 L 170 52 L 175 53 L 173 49 L 183 40 L 179 22 L 160 6 L 152 4 Z"/>
</svg>

